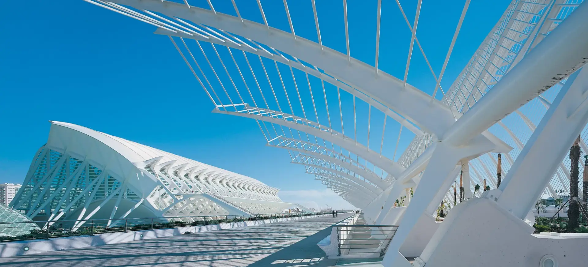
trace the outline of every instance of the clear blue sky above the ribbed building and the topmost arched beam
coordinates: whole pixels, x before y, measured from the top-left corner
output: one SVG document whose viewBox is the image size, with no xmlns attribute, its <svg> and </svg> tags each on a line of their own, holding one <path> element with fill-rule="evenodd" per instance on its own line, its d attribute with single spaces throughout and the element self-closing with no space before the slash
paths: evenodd
<svg viewBox="0 0 588 267">
<path fill-rule="evenodd" d="M 206 1 L 189 1 L 208 6 Z M 237 1 L 262 22 L 255 1 Z M 416 1 L 400 1 L 413 21 Z M 423 1 L 417 37 L 439 74 L 464 1 Z M 449 88 L 510 1 L 472 1 L 442 82 Z M 234 14 L 230 1 L 213 1 Z M 323 44 L 345 52 L 342 5 L 317 1 Z M 351 55 L 373 65 L 377 1 L 348 3 Z M 262 1 L 270 25 L 289 29 L 282 1 Z M 166 36 L 155 27 L 79 1 L 0 3 L 0 182 L 22 182 L 46 142 L 49 120 L 71 122 L 242 173 L 282 188 L 286 201 L 343 205 L 288 153 L 265 146 L 254 121 L 212 114 L 213 105 Z M 316 41 L 310 1 L 290 1 L 296 34 Z M 380 69 L 402 79 L 410 31 L 383 1 Z M 408 82 L 435 82 L 415 46 Z M 168 127 L 166 127 L 168 126 Z M 388 136 L 386 136 L 388 138 Z M 392 137 L 394 138 L 394 137 Z M 410 138 L 402 139 L 406 147 Z M 402 151 L 399 151 L 399 153 Z M 312 191 L 315 190 L 315 191 Z M 314 199 L 312 196 L 316 196 Z"/>
</svg>

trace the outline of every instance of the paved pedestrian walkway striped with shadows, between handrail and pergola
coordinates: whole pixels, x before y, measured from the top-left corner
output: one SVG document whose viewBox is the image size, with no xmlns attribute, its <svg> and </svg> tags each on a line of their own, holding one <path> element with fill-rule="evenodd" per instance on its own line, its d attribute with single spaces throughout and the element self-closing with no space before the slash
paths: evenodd
<svg viewBox="0 0 588 267">
<path fill-rule="evenodd" d="M 334 266 L 337 260 L 326 259 L 316 243 L 329 235 L 330 225 L 350 215 L 0 258 L 0 266 Z"/>
</svg>

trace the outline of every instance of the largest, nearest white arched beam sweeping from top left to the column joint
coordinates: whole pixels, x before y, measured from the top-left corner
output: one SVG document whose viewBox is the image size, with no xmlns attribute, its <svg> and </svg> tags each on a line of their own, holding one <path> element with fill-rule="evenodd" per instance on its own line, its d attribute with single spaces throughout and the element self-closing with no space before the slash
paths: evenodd
<svg viewBox="0 0 588 267">
<path fill-rule="evenodd" d="M 268 45 L 323 69 L 329 75 L 346 82 L 382 104 L 393 109 L 421 128 L 441 136 L 455 122 L 455 116 L 440 101 L 430 103 L 430 95 L 413 86 L 404 88 L 403 81 L 385 72 L 378 72 L 375 79 L 373 67 L 328 47 L 300 36 L 292 42 L 292 34 L 285 31 L 216 12 L 208 9 L 188 8 L 185 5 L 160 0 L 116 0 L 118 4 L 159 12 L 166 16 L 188 19 L 192 22 L 232 32 Z"/>
</svg>

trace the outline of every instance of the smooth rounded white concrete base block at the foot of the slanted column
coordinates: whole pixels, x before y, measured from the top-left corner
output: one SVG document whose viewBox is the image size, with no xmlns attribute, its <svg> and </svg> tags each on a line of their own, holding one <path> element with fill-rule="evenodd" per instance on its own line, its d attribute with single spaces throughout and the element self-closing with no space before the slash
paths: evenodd
<svg viewBox="0 0 588 267">
<path fill-rule="evenodd" d="M 419 258 L 426 267 L 586 266 L 588 233 L 533 231 L 495 201 L 473 198 L 452 209 Z"/>
</svg>

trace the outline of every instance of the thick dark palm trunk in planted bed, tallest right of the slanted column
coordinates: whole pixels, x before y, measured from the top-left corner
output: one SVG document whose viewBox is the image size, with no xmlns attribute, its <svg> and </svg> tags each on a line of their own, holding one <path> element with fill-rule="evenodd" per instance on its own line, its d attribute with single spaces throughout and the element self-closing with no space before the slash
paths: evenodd
<svg viewBox="0 0 588 267">
<path fill-rule="evenodd" d="M 578 196 L 578 182 L 579 182 L 579 160 L 580 160 L 580 136 L 574 141 L 572 148 L 570 148 L 570 198 L 577 199 Z M 567 210 L 567 217 L 570 222 L 567 224 L 568 229 L 576 229 L 579 227 L 578 219 L 580 217 L 580 207 L 578 202 L 570 201 L 570 207 Z"/>
</svg>

